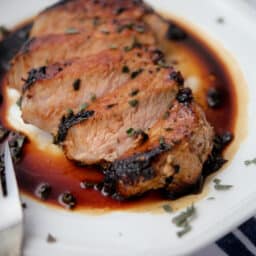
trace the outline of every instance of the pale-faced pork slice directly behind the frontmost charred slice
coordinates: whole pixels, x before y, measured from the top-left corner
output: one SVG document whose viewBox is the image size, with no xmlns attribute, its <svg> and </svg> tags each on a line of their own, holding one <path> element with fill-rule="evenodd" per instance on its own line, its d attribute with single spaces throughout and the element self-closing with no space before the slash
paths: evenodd
<svg viewBox="0 0 256 256">
<path fill-rule="evenodd" d="M 136 79 L 127 82 L 89 107 L 94 115 L 67 129 L 63 147 L 66 156 L 84 164 L 111 162 L 147 138 L 147 130 L 164 118 L 174 101 L 179 84 L 172 79 L 172 68 L 145 69 Z M 60 124 L 65 132 L 68 119 Z M 134 134 L 133 134 L 134 133 Z"/>
</svg>

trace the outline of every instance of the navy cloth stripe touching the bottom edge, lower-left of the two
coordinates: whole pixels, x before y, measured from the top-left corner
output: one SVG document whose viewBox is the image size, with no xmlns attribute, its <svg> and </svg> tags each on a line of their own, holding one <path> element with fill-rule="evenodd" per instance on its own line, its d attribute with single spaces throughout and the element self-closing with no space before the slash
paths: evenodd
<svg viewBox="0 0 256 256">
<path fill-rule="evenodd" d="M 216 244 L 229 256 L 254 256 L 232 233 L 218 240 Z"/>
</svg>

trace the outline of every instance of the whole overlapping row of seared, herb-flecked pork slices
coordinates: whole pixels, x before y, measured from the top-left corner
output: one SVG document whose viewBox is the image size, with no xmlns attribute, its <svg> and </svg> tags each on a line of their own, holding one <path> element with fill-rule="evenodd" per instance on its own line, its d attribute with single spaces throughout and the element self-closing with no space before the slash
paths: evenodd
<svg viewBox="0 0 256 256">
<path fill-rule="evenodd" d="M 152 33 L 137 27 L 135 33 L 145 37 L 138 43 L 133 24 L 123 32 L 120 23 L 126 20 L 149 26 Z M 168 29 L 140 0 L 63 0 L 35 20 L 31 36 L 43 38 L 32 40 L 25 50 L 36 63 L 30 57 L 14 62 L 19 64 L 12 72 L 13 84 L 29 65 L 45 65 L 47 54 L 60 54 L 52 57 L 51 63 L 58 63 L 29 72 L 23 119 L 55 134 L 69 159 L 104 167 L 103 189 L 109 194 L 184 192 L 200 179 L 212 150 L 213 129 L 191 90 L 183 88 L 181 74 L 166 66 L 162 52 L 143 48 L 156 44 L 165 50 Z M 79 41 L 82 35 L 85 43 Z M 120 46 L 105 50 L 102 41 Z M 86 45 L 89 55 L 98 54 L 86 55 Z M 83 58 L 72 59 L 79 52 Z"/>
</svg>

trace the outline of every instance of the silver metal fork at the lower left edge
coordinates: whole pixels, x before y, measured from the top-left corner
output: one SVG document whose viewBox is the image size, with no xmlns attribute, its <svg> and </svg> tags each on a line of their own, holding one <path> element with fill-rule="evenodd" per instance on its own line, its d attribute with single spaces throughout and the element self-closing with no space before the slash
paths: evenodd
<svg viewBox="0 0 256 256">
<path fill-rule="evenodd" d="M 4 153 L 5 171 L 0 175 L 0 256 L 18 256 L 22 245 L 23 214 L 7 142 L 1 146 L 1 153 Z"/>
</svg>

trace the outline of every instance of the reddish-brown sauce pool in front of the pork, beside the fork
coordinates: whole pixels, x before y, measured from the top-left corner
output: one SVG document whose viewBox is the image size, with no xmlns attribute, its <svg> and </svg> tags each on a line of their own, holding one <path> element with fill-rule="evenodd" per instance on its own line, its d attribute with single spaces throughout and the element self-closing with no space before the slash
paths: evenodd
<svg viewBox="0 0 256 256">
<path fill-rule="evenodd" d="M 36 190 L 42 183 L 51 186 L 51 193 L 47 203 L 58 204 L 58 197 L 70 191 L 77 201 L 77 209 L 81 208 L 129 208 L 141 202 L 158 201 L 160 198 L 156 193 L 150 193 L 146 198 L 135 201 L 119 202 L 111 197 L 103 196 L 97 191 L 97 186 L 89 189 L 82 189 L 81 182 L 98 184 L 102 181 L 103 175 L 93 168 L 79 167 L 68 161 L 64 156 L 50 156 L 27 143 L 24 157 L 16 166 L 16 174 L 19 187 L 25 194 L 41 200 L 36 196 Z M 40 159 L 40 161 L 39 161 Z"/>
</svg>

